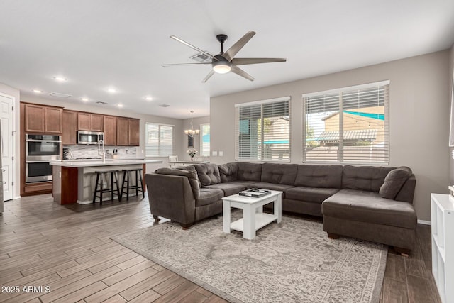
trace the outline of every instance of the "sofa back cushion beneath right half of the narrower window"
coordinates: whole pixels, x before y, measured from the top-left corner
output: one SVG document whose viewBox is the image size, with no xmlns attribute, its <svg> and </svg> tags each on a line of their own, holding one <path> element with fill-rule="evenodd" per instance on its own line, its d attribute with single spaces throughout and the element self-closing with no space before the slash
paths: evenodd
<svg viewBox="0 0 454 303">
<path fill-rule="evenodd" d="M 296 164 L 263 163 L 261 182 L 293 185 L 297 170 Z"/>
</svg>

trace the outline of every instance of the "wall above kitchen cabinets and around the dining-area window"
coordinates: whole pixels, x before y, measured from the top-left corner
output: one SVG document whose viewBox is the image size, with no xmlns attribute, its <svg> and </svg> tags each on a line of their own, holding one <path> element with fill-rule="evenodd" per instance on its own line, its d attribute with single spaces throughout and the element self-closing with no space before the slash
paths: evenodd
<svg viewBox="0 0 454 303">
<path fill-rule="evenodd" d="M 70 109 L 74 111 L 88 111 L 97 114 L 105 114 L 105 115 L 113 115 L 113 116 L 126 116 L 130 118 L 138 118 L 140 119 L 140 146 L 136 150 L 136 155 L 138 158 L 145 158 L 145 122 L 152 122 L 152 123 L 164 123 L 170 124 L 175 126 L 175 151 L 177 155 L 180 157 L 183 155 L 182 152 L 182 137 L 183 137 L 183 128 L 182 128 L 182 120 L 181 119 L 171 119 L 162 116 L 151 116 L 151 115 L 143 115 L 137 114 L 133 112 L 123 111 L 121 109 L 111 109 L 108 107 L 102 106 L 94 106 L 89 104 L 83 104 L 81 102 L 74 103 L 68 101 L 60 101 L 60 100 L 53 100 L 53 99 L 45 99 L 42 97 L 35 97 L 29 95 L 22 95 L 21 101 L 24 102 L 31 102 L 36 104 L 47 104 L 53 106 L 62 106 L 65 109 Z M 167 166 L 167 157 L 153 157 L 148 158 L 150 160 L 162 160 L 162 164 L 153 164 L 147 165 L 147 172 L 153 172 L 157 168 L 162 166 Z"/>
</svg>

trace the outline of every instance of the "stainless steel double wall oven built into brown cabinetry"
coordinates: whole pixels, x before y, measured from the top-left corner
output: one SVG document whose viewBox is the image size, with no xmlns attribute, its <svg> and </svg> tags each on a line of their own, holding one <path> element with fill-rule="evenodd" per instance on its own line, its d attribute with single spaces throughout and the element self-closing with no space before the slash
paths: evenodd
<svg viewBox="0 0 454 303">
<path fill-rule="evenodd" d="M 26 134 L 26 183 L 52 180 L 50 162 L 62 160 L 62 136 Z"/>
</svg>

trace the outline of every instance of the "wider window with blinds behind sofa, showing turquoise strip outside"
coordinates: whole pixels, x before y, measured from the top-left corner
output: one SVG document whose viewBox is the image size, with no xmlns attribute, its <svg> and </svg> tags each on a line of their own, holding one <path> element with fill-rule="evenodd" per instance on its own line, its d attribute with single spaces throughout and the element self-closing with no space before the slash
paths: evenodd
<svg viewBox="0 0 454 303">
<path fill-rule="evenodd" d="M 389 164 L 389 81 L 303 95 L 303 162 Z"/>
</svg>

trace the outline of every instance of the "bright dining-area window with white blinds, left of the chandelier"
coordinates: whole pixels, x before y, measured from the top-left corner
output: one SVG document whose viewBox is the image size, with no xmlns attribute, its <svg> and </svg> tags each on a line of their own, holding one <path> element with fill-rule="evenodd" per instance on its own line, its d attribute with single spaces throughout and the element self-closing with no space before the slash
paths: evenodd
<svg viewBox="0 0 454 303">
<path fill-rule="evenodd" d="M 145 123 L 145 155 L 167 157 L 174 154 L 174 126 Z"/>
</svg>

